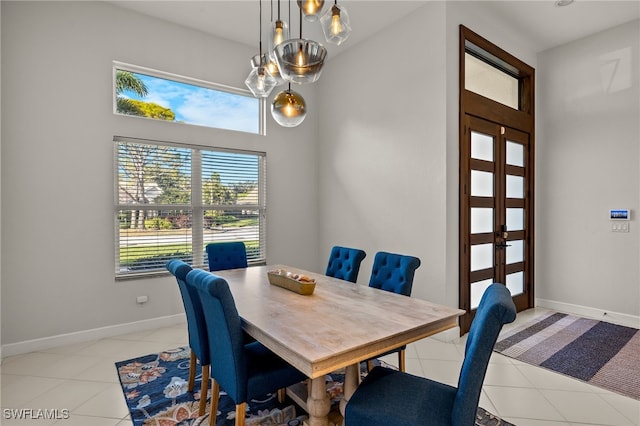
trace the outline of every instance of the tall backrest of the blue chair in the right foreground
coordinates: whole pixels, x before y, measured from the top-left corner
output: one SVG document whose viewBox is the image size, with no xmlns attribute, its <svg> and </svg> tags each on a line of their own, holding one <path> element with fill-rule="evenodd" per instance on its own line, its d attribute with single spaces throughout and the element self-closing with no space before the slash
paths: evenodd
<svg viewBox="0 0 640 426">
<path fill-rule="evenodd" d="M 472 425 L 478 409 L 489 358 L 504 324 L 516 319 L 511 293 L 503 284 L 491 284 L 482 295 L 467 336 L 464 361 L 458 379 L 452 425 Z"/>
</svg>

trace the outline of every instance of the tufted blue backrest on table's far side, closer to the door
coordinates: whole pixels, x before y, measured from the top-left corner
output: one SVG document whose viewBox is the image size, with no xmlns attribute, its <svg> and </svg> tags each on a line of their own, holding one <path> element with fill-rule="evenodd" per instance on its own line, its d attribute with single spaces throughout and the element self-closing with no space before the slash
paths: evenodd
<svg viewBox="0 0 640 426">
<path fill-rule="evenodd" d="M 369 287 L 411 296 L 413 276 L 419 266 L 417 257 L 379 251 L 373 259 Z"/>
</svg>

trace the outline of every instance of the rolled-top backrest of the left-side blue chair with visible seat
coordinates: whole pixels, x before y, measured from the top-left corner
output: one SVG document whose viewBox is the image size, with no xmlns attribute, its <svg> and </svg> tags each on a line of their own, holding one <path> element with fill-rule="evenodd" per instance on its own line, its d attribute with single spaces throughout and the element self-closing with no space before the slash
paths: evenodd
<svg viewBox="0 0 640 426">
<path fill-rule="evenodd" d="M 213 377 L 236 404 L 247 398 L 247 360 L 244 334 L 229 284 L 221 277 L 194 269 L 187 285 L 197 289 L 204 311 Z"/>
</svg>

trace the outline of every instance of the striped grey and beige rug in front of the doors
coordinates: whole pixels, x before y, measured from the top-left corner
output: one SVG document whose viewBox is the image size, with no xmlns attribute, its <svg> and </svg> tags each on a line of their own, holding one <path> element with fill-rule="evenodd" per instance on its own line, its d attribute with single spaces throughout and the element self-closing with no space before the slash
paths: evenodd
<svg viewBox="0 0 640 426">
<path fill-rule="evenodd" d="M 640 330 L 558 312 L 503 333 L 495 351 L 640 400 Z"/>
</svg>

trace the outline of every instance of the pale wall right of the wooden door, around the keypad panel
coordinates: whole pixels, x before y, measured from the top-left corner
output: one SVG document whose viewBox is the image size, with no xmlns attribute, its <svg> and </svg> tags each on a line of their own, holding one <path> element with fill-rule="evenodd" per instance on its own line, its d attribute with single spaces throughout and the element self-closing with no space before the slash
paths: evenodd
<svg viewBox="0 0 640 426">
<path fill-rule="evenodd" d="M 538 68 L 536 290 L 640 315 L 640 21 L 543 52 Z M 609 209 L 632 210 L 629 233 Z"/>
</svg>

